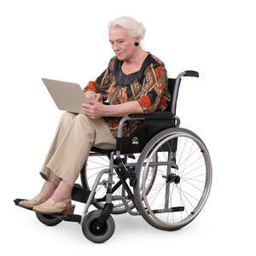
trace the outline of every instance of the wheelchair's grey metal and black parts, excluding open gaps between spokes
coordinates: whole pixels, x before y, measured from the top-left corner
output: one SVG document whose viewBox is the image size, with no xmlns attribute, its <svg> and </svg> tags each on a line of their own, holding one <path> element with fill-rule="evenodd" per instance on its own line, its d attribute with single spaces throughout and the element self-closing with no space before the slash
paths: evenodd
<svg viewBox="0 0 256 256">
<path fill-rule="evenodd" d="M 207 148 L 205 144 L 201 141 L 201 138 L 195 135 L 192 131 L 188 131 L 186 129 L 179 128 L 180 125 L 180 119 L 176 116 L 176 108 L 177 108 L 177 95 L 179 90 L 179 85 L 181 83 L 182 77 L 199 77 L 199 73 L 195 71 L 185 71 L 183 73 L 179 73 L 176 79 L 168 79 L 168 89 L 171 92 L 172 95 L 172 101 L 171 104 L 166 108 L 165 112 L 154 112 L 149 114 L 143 114 L 143 113 L 134 113 L 130 114 L 129 116 L 125 116 L 122 118 L 119 122 L 118 126 L 118 136 L 117 136 L 117 143 L 115 149 L 101 149 L 101 148 L 91 148 L 90 150 L 90 156 L 97 156 L 97 155 L 107 155 L 109 159 L 109 167 L 106 169 L 103 169 L 101 172 L 99 172 L 96 176 L 96 180 L 92 186 L 92 188 L 89 190 L 89 188 L 85 188 L 85 185 L 83 183 L 83 178 L 86 179 L 86 177 L 82 177 L 83 173 L 82 171 L 85 170 L 86 162 L 84 163 L 84 167 L 81 171 L 81 177 L 82 177 L 82 184 L 83 186 L 79 184 L 75 184 L 73 187 L 72 192 L 72 198 L 74 201 L 84 202 L 84 211 L 81 215 L 78 214 L 52 214 L 50 216 L 46 216 L 46 214 L 39 214 L 36 212 L 38 219 L 47 225 L 55 225 L 60 223 L 62 220 L 66 221 L 72 221 L 72 222 L 78 222 L 79 224 L 82 224 L 82 229 L 84 232 L 84 236 L 86 236 L 90 241 L 94 242 L 103 242 L 107 241 L 112 235 L 114 231 L 114 222 L 113 218 L 110 216 L 111 213 L 113 213 L 113 201 L 122 201 L 125 212 L 129 212 L 131 215 L 143 215 L 143 218 L 148 221 L 149 224 L 155 226 L 156 228 L 159 228 L 161 230 L 177 230 L 184 226 L 185 224 L 188 224 L 190 221 L 192 221 L 195 216 L 188 218 L 183 224 L 176 227 L 168 227 L 167 225 L 160 225 L 152 218 L 148 218 L 147 214 L 148 212 L 154 213 L 162 213 L 162 212 L 183 212 L 184 207 L 168 207 L 168 203 L 165 203 L 164 209 L 156 209 L 156 210 L 150 210 L 150 207 L 143 207 L 143 203 L 145 203 L 147 200 L 144 198 L 144 202 L 140 202 L 139 198 L 141 196 L 141 187 L 138 189 L 137 181 L 140 177 L 138 177 L 137 174 L 137 168 L 138 166 L 143 166 L 143 160 L 140 160 L 142 163 L 138 165 L 138 162 L 136 163 L 127 163 L 127 159 L 130 157 L 133 157 L 133 154 L 141 153 L 147 149 L 145 148 L 146 145 L 151 141 L 152 138 L 160 137 L 162 134 L 164 138 L 167 140 L 170 138 L 171 144 L 167 144 L 168 146 L 171 145 L 172 153 L 170 152 L 170 158 L 168 154 L 168 160 L 164 163 L 158 163 L 156 166 L 160 165 L 168 165 L 169 171 L 167 172 L 166 176 L 163 176 L 166 178 L 166 201 L 169 201 L 169 194 L 170 194 L 170 183 L 176 183 L 179 182 L 178 175 L 172 173 L 170 170 L 171 168 L 177 168 L 176 164 L 176 149 L 177 149 L 177 137 L 179 135 L 183 135 L 186 137 L 193 138 L 196 143 L 199 143 L 201 145 L 201 152 L 203 154 L 207 154 L 205 157 L 206 163 L 207 163 L 207 190 L 204 191 L 204 198 L 201 202 L 200 209 L 198 209 L 198 212 L 191 212 L 192 215 L 197 215 L 201 208 L 204 206 L 205 202 L 207 201 L 207 197 L 209 195 L 209 191 L 211 188 L 212 183 L 212 166 L 211 166 L 211 160 L 210 156 L 207 152 Z M 122 137 L 122 127 L 125 124 L 125 122 L 130 120 L 142 120 L 143 124 L 140 125 L 137 128 L 137 131 L 134 131 L 131 133 L 129 137 Z M 168 131 L 166 133 L 166 131 Z M 170 136 L 168 135 L 170 134 Z M 168 136 L 167 136 L 168 135 Z M 164 141 L 162 137 L 159 138 L 160 143 Z M 152 142 L 154 143 L 154 142 Z M 151 143 L 151 144 L 152 144 Z M 162 151 L 165 151 L 166 144 L 163 144 Z M 170 146 L 169 146 L 170 148 Z M 171 149 L 170 148 L 170 149 Z M 150 151 L 150 150 L 151 151 Z M 154 152 L 154 148 L 149 148 L 148 152 L 144 153 L 145 155 L 152 155 L 151 153 Z M 168 150 L 168 149 L 167 149 Z M 121 154 L 125 155 L 124 158 L 121 158 Z M 115 159 L 114 159 L 115 156 Z M 155 161 L 155 160 L 154 160 Z M 153 162 L 154 164 L 154 162 Z M 147 165 L 152 166 L 152 162 Z M 147 167 L 148 168 L 148 167 Z M 113 172 L 115 172 L 118 177 L 119 181 L 113 186 Z M 148 172 L 148 171 L 147 171 Z M 108 179 L 103 180 L 101 182 L 101 178 L 103 174 L 108 174 Z M 126 179 L 129 178 L 130 180 L 130 186 L 135 189 L 135 194 L 131 192 L 131 189 L 129 185 L 126 183 Z M 153 181 L 154 183 L 154 181 Z M 96 195 L 96 188 L 98 185 L 103 185 L 107 189 L 107 193 L 102 198 L 95 199 Z M 150 183 L 149 186 L 152 186 L 153 184 Z M 119 187 L 122 186 L 122 195 L 113 195 L 113 193 L 119 189 Z M 148 188 L 147 188 L 148 189 Z M 150 190 L 150 189 L 149 189 Z M 147 190 L 148 191 L 148 190 Z M 145 196 L 145 188 L 143 190 L 143 195 Z M 125 192 L 127 195 L 125 196 Z M 169 194 L 168 194 L 169 193 Z M 129 206 L 129 203 L 127 201 L 131 201 L 131 206 Z M 22 201 L 21 199 L 16 199 L 15 204 L 19 206 L 19 202 Z M 98 202 L 105 202 L 103 207 L 98 207 L 100 210 L 93 211 L 92 214 L 88 213 L 89 207 L 93 203 Z M 132 208 L 135 207 L 137 211 L 132 211 Z M 146 210 L 145 210 L 146 209 Z M 120 212 L 122 213 L 122 212 Z M 89 216 L 89 217 L 88 217 Z M 87 224 L 90 221 L 90 223 L 93 224 Z M 102 228 L 104 227 L 104 228 Z M 90 229 L 95 231 L 95 234 L 91 234 Z M 102 231 L 105 232 L 103 232 Z M 100 231 L 99 231 L 100 230 Z M 107 230 L 107 231 L 106 231 Z M 103 234 L 103 233 L 104 234 Z M 103 234 L 103 235 L 102 235 Z M 107 235 L 106 235 L 107 234 Z"/>
</svg>

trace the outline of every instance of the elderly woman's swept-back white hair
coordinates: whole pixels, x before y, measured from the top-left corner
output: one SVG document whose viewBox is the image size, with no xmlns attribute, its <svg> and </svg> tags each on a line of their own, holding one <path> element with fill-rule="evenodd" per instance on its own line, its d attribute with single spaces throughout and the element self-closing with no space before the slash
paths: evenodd
<svg viewBox="0 0 256 256">
<path fill-rule="evenodd" d="M 125 28 L 130 33 L 131 37 L 136 38 L 139 36 L 141 40 L 143 40 L 146 32 L 142 22 L 138 22 L 137 20 L 128 16 L 121 16 L 110 21 L 108 24 L 108 29 L 114 26 L 121 26 Z"/>
</svg>

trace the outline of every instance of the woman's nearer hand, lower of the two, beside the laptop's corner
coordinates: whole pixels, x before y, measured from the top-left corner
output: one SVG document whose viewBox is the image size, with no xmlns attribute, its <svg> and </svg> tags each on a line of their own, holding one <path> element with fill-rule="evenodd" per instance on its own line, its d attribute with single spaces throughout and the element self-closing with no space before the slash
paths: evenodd
<svg viewBox="0 0 256 256">
<path fill-rule="evenodd" d="M 84 113 L 86 113 L 91 119 L 99 119 L 103 116 L 103 108 L 102 98 L 96 95 L 96 99 L 94 101 L 83 103 L 82 108 Z"/>
</svg>

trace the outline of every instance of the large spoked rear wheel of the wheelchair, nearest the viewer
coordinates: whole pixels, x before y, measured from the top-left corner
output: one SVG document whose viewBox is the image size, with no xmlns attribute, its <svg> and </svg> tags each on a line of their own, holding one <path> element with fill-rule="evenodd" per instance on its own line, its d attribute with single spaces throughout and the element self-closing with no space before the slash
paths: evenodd
<svg viewBox="0 0 256 256">
<path fill-rule="evenodd" d="M 157 173 L 147 192 L 151 168 Z M 182 128 L 154 136 L 143 148 L 136 172 L 137 207 L 143 218 L 160 230 L 178 230 L 189 224 L 201 212 L 211 189 L 212 164 L 207 148 L 200 137 Z"/>
</svg>

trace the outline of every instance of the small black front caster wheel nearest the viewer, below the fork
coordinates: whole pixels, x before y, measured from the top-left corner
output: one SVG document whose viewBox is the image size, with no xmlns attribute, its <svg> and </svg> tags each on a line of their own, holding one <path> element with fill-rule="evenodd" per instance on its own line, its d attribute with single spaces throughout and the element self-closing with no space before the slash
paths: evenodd
<svg viewBox="0 0 256 256">
<path fill-rule="evenodd" d="M 97 223 L 101 213 L 101 210 L 89 212 L 82 223 L 84 236 L 97 243 L 107 241 L 113 235 L 115 228 L 112 216 L 107 218 L 105 224 L 99 225 Z"/>
</svg>

